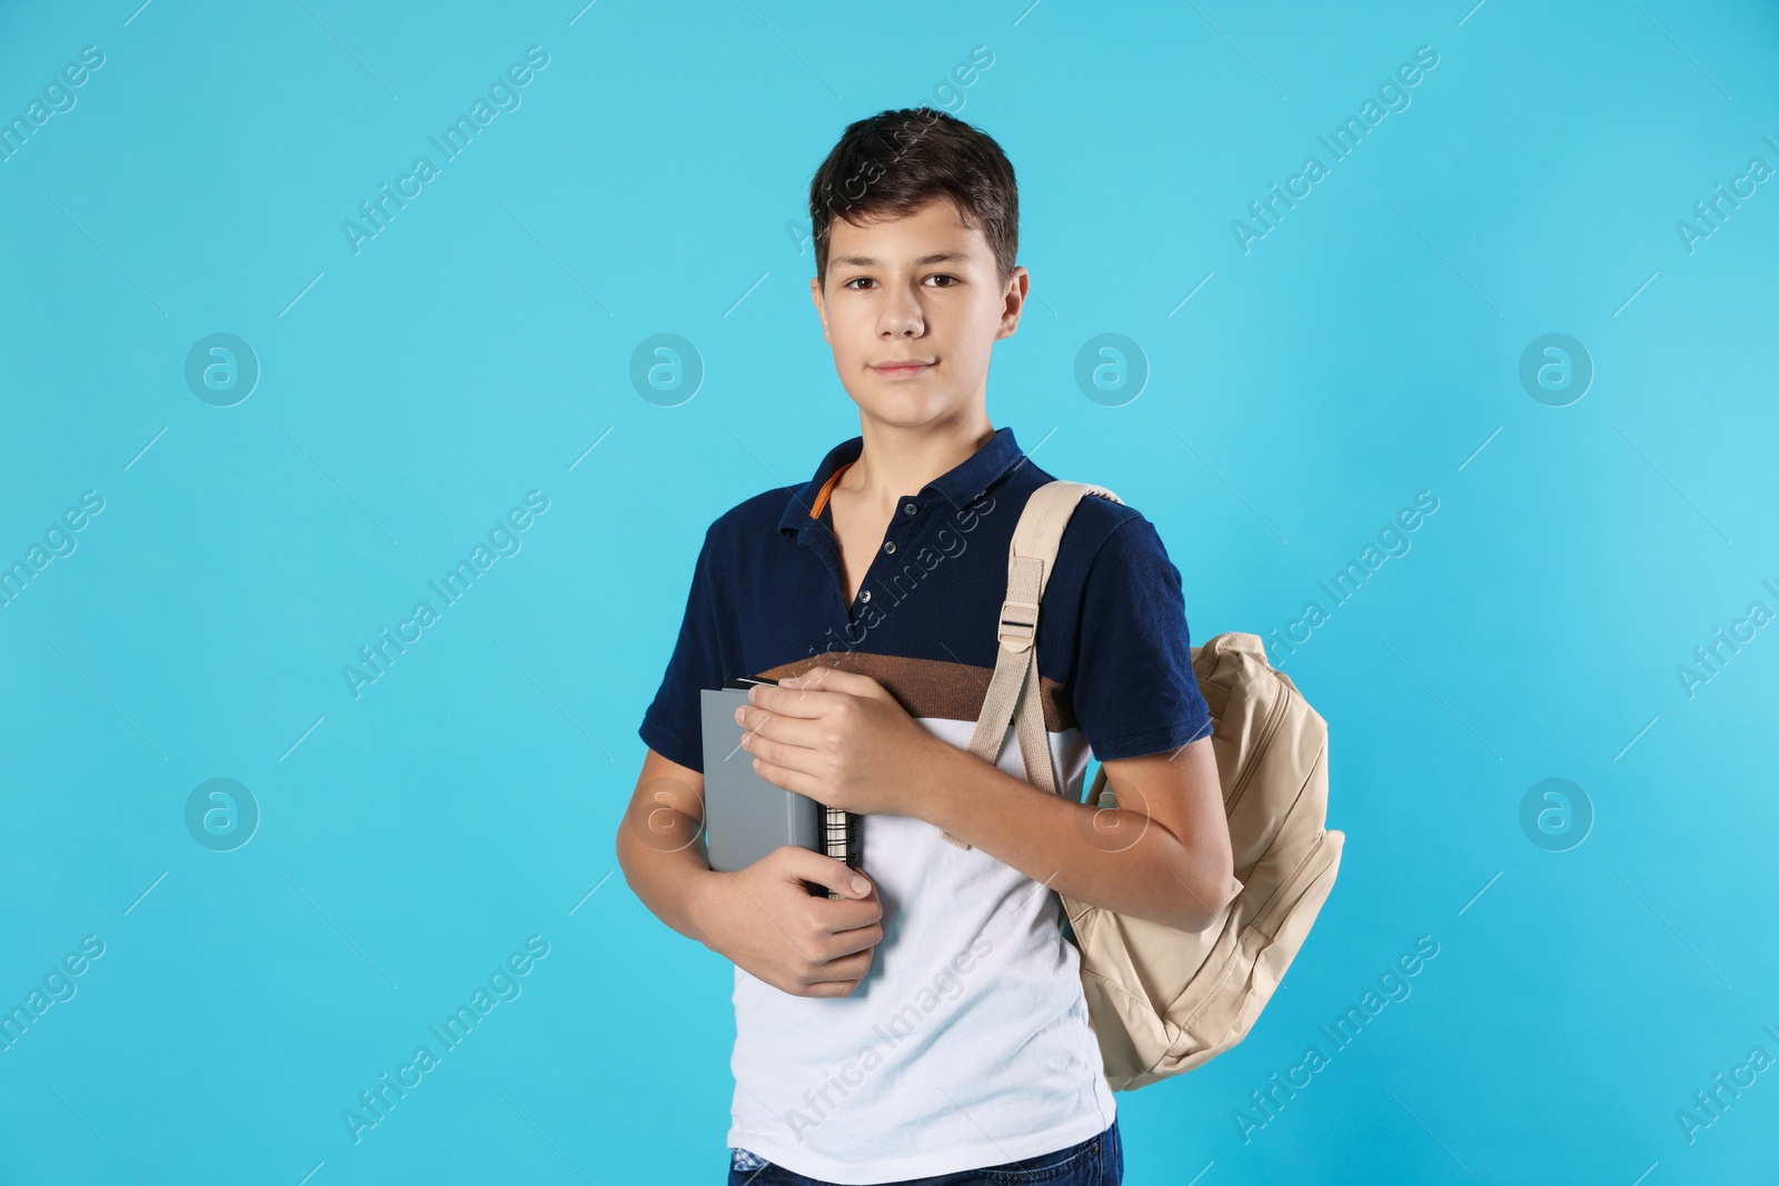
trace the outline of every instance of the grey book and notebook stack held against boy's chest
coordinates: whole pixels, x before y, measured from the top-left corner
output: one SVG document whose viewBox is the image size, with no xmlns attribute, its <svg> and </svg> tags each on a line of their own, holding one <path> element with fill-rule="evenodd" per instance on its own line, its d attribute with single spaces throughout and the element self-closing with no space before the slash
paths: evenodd
<svg viewBox="0 0 1779 1186">
<path fill-rule="evenodd" d="M 774 848 L 797 845 L 818 852 L 847 868 L 863 859 L 863 820 L 840 807 L 788 791 L 765 779 L 742 749 L 735 709 L 747 702 L 747 688 L 776 679 L 729 679 L 722 688 L 703 688 L 704 733 L 704 841 L 710 868 L 733 873 L 760 861 Z M 811 894 L 843 898 L 815 882 L 804 882 Z"/>
</svg>

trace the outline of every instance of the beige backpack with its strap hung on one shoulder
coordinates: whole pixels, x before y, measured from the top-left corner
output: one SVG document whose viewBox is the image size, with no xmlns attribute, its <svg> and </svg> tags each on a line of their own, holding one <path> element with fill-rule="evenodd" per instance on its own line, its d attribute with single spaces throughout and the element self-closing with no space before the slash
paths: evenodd
<svg viewBox="0 0 1779 1186">
<path fill-rule="evenodd" d="M 1057 791 L 1037 686 L 1037 606 L 1062 530 L 1087 494 L 1108 489 L 1050 482 L 1026 503 L 1007 558 L 1000 656 L 970 750 L 993 763 L 1012 724 L 1028 781 Z M 1067 894 L 1069 939 L 1099 1038 L 1107 1081 L 1128 1092 L 1192 1070 L 1252 1028 L 1322 909 L 1345 834 L 1327 814 L 1327 724 L 1297 685 L 1267 663 L 1254 635 L 1217 635 L 1192 647 L 1210 706 L 1238 893 L 1203 932 L 1114 914 Z M 1115 807 L 1105 768 L 1089 805 Z M 968 848 L 952 834 L 945 839 Z"/>
</svg>

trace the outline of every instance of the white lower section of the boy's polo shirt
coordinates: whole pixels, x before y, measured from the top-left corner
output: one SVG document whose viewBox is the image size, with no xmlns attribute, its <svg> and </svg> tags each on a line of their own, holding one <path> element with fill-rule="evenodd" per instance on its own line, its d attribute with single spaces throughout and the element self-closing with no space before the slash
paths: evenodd
<svg viewBox="0 0 1779 1186">
<path fill-rule="evenodd" d="M 961 749 L 975 722 L 916 718 Z M 1080 802 L 1089 747 L 1050 733 Z M 1007 731 L 996 765 L 1025 777 Z M 1117 1108 L 1087 1021 L 1080 953 L 1053 889 L 913 816 L 863 820 L 882 942 L 845 998 L 783 992 L 735 969 L 728 1143 L 866 1186 L 1067 1149 Z"/>
</svg>

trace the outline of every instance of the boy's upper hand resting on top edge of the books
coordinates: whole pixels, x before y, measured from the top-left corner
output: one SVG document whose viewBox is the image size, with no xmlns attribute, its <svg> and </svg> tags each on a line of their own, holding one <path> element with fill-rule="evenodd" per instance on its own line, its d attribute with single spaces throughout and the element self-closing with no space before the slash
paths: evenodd
<svg viewBox="0 0 1779 1186">
<path fill-rule="evenodd" d="M 774 786 L 857 814 L 918 816 L 909 772 L 952 749 L 927 733 L 890 692 L 859 672 L 815 667 L 777 685 L 754 685 L 737 720 L 754 770 Z"/>
</svg>

